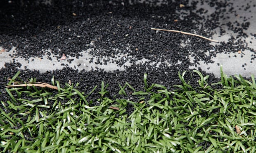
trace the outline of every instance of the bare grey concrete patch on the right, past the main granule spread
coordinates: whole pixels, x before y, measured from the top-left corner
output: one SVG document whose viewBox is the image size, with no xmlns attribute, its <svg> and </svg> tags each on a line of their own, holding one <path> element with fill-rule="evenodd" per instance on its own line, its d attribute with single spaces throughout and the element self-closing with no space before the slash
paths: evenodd
<svg viewBox="0 0 256 153">
<path fill-rule="evenodd" d="M 245 32 L 249 36 L 247 39 L 244 39 L 245 43 L 248 43 L 248 46 L 250 48 L 253 48 L 254 51 L 256 51 L 256 38 L 252 37 L 250 34 L 256 34 L 256 9 L 250 9 L 250 10 L 244 10 L 240 9 L 241 5 L 246 4 L 248 0 L 235 0 L 233 2 L 233 7 L 237 11 L 237 16 L 234 16 L 231 13 L 224 14 L 225 20 L 221 20 L 221 24 L 228 23 L 228 22 L 234 22 L 238 21 L 239 23 L 243 23 L 244 18 L 240 18 L 240 16 L 246 16 L 249 18 L 250 26 Z M 256 1 L 252 1 L 251 6 L 256 5 Z M 202 7 L 209 8 L 208 14 L 212 13 L 212 10 L 209 6 L 204 5 Z M 227 8 L 228 9 L 228 8 Z M 233 16 L 231 18 L 228 18 L 227 16 Z M 224 35 L 213 35 L 213 39 L 218 40 L 219 42 L 227 42 L 228 39 L 230 39 L 231 36 L 236 37 L 237 33 L 234 33 L 232 30 L 229 30 L 227 26 L 223 25 L 222 28 L 226 31 Z M 219 30 L 219 29 L 217 29 Z M 217 32 L 218 33 L 218 32 Z M 211 43 L 214 45 L 214 43 Z M 239 49 L 238 49 L 239 50 Z M 223 71 L 227 75 L 233 75 L 233 74 L 241 74 L 244 77 L 250 77 L 251 74 L 256 75 L 256 62 L 252 61 L 251 63 L 251 56 L 253 56 L 255 53 L 252 53 L 249 50 L 244 50 L 241 53 L 218 53 L 215 58 L 212 58 L 215 63 L 209 63 L 205 64 L 204 61 L 200 61 L 199 67 L 201 67 L 202 70 L 205 70 L 206 72 L 213 73 L 215 76 L 220 76 L 220 67 L 218 65 L 223 65 Z M 241 57 L 241 55 L 243 57 Z M 230 56 L 230 58 L 229 58 Z M 218 64 L 219 63 L 219 64 Z M 244 67 L 241 67 L 241 65 L 244 65 Z M 209 69 L 210 67 L 210 69 Z M 195 68 L 195 67 L 190 67 Z"/>
</svg>

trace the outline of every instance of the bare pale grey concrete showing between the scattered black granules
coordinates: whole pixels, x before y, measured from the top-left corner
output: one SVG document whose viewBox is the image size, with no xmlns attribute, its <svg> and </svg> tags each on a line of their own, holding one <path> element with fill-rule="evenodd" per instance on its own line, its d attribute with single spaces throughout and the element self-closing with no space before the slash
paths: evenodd
<svg viewBox="0 0 256 153">
<path fill-rule="evenodd" d="M 240 21 L 242 22 L 243 19 L 239 18 L 240 15 L 242 16 L 248 16 L 250 18 L 249 22 L 251 23 L 249 28 L 246 30 L 246 32 L 248 33 L 248 35 L 250 33 L 255 34 L 256 33 L 256 27 L 254 25 L 256 25 L 256 9 L 250 9 L 252 10 L 251 12 L 249 12 L 249 10 L 245 11 L 244 9 L 239 10 L 239 6 L 241 5 L 241 3 L 243 3 L 244 0 L 236 0 L 233 3 L 235 4 L 233 7 L 235 7 L 235 9 L 237 10 L 237 16 L 236 17 L 232 17 L 229 19 L 225 19 L 221 22 L 223 23 L 227 23 L 229 21 Z M 253 0 L 251 2 L 251 5 L 256 5 L 256 1 Z M 213 8 L 211 8 L 208 5 L 199 5 L 198 7 L 202 7 L 204 9 L 209 10 L 207 12 L 207 14 L 211 14 L 213 13 Z M 204 14 L 205 16 L 207 14 Z M 226 16 L 233 16 L 233 14 L 226 14 Z M 156 28 L 156 27 L 155 27 Z M 233 33 L 231 30 L 228 30 L 228 27 L 223 26 L 222 27 L 226 32 L 222 35 L 213 35 L 212 39 L 218 40 L 218 41 L 226 41 L 228 40 L 231 36 L 235 36 L 236 34 Z M 219 33 L 218 30 L 219 29 L 215 29 L 216 33 Z M 245 39 L 245 42 L 248 43 L 248 46 L 253 48 L 254 50 L 256 50 L 256 39 L 255 37 L 251 37 L 251 35 L 249 35 L 249 37 L 247 39 Z M 213 45 L 215 45 L 214 42 L 212 42 Z M 53 60 L 47 60 L 47 57 L 41 59 L 41 58 L 29 58 L 29 62 L 27 60 L 24 60 L 23 58 L 19 58 L 16 57 L 15 60 L 16 62 L 19 62 L 22 64 L 21 69 L 36 69 L 36 70 L 40 70 L 40 72 L 46 72 L 49 70 L 56 70 L 56 69 L 62 69 L 63 67 L 65 67 L 66 65 L 68 65 L 69 67 L 72 68 L 76 68 L 78 70 L 91 70 L 92 68 L 98 67 L 101 69 L 104 69 L 105 71 L 111 71 L 111 70 L 124 70 L 123 67 L 119 67 L 119 65 L 117 65 L 115 62 L 111 63 L 109 62 L 108 65 L 99 65 L 99 64 L 95 64 L 95 61 L 89 63 L 90 61 L 90 54 L 88 54 L 89 51 L 95 49 L 93 47 L 93 43 L 88 44 L 89 46 L 92 46 L 91 49 L 88 49 L 86 51 L 81 51 L 82 52 L 82 57 L 80 57 L 79 59 L 77 58 L 71 58 L 69 57 L 69 55 L 66 55 L 67 59 L 66 60 L 59 60 L 56 57 L 53 57 Z M 181 44 L 184 45 L 184 44 Z M 2 47 L 0 46 L 0 50 L 2 49 Z M 213 49 L 214 50 L 214 49 Z M 0 53 L 0 67 L 4 67 L 4 63 L 5 62 L 11 62 L 13 60 L 12 53 L 15 52 L 15 46 L 12 47 L 12 50 L 7 52 L 7 51 L 3 51 Z M 241 57 L 241 55 L 243 55 L 243 57 Z M 248 50 L 244 50 L 242 51 L 242 53 L 218 53 L 216 55 L 215 58 L 212 58 L 213 61 L 215 61 L 215 63 L 204 63 L 204 61 L 199 61 L 199 65 L 197 66 L 191 66 L 190 68 L 198 68 L 201 67 L 202 70 L 205 70 L 206 72 L 209 73 L 213 73 L 215 76 L 220 76 L 220 66 L 219 65 L 223 65 L 223 70 L 226 74 L 228 75 L 233 75 L 233 74 L 241 74 L 242 76 L 245 77 L 249 77 L 251 74 L 256 75 L 256 68 L 255 68 L 255 61 L 250 62 L 251 61 L 251 55 L 253 55 L 253 53 L 251 51 Z M 229 57 L 230 56 L 230 57 Z M 236 56 L 236 57 L 235 57 Z M 102 60 L 104 58 L 107 57 L 103 57 Z M 120 54 L 120 55 L 116 55 L 116 58 L 129 58 L 128 55 L 126 54 Z M 72 63 L 69 63 L 68 59 L 73 59 Z M 190 60 L 192 61 L 194 58 L 190 57 Z M 115 60 L 114 58 L 111 60 Z M 137 63 L 144 63 L 145 61 L 147 61 L 146 59 L 142 59 L 142 60 L 137 60 Z M 151 61 L 152 63 L 154 63 L 154 61 Z M 129 66 L 130 63 L 126 63 L 126 66 Z M 80 66 L 77 66 L 80 65 Z M 244 65 L 244 67 L 242 67 L 241 65 Z"/>
</svg>

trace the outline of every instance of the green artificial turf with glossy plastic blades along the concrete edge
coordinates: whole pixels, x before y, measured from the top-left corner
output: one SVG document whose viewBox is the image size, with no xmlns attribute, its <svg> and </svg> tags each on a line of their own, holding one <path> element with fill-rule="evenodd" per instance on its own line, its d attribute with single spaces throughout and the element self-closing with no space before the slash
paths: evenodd
<svg viewBox="0 0 256 153">
<path fill-rule="evenodd" d="M 135 90 L 127 82 L 119 96 L 109 96 L 102 82 L 88 94 L 79 83 L 62 88 L 52 77 L 52 88 L 6 87 L 9 100 L 1 101 L 0 150 L 3 152 L 255 152 L 256 83 L 242 76 L 227 76 L 209 83 L 199 76 L 192 87 L 169 90 L 148 84 Z M 7 85 L 23 81 L 19 72 Z M 97 99 L 90 99 L 98 93 Z M 131 97 L 128 98 L 128 94 Z M 122 98 L 120 98 L 120 95 Z M 92 105 L 94 104 L 94 105 Z M 126 111 L 133 109 L 132 113 Z"/>
</svg>

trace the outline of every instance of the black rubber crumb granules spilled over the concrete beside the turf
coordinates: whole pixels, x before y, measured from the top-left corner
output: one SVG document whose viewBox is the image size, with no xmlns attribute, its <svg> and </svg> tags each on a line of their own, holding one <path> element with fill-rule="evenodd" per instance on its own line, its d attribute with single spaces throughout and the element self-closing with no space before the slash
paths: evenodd
<svg viewBox="0 0 256 153">
<path fill-rule="evenodd" d="M 249 48 L 243 41 L 249 37 L 244 32 L 251 26 L 249 21 L 220 22 L 224 18 L 238 15 L 232 1 L 175 0 L 161 6 L 157 6 L 158 2 L 154 0 L 151 4 L 137 3 L 135 0 L 52 0 L 51 4 L 47 2 L 1 1 L 0 46 L 6 51 L 12 46 L 17 47 L 14 56 L 26 60 L 29 57 L 43 58 L 43 55 L 47 55 L 49 60 L 52 60 L 51 55 L 59 59 L 63 53 L 80 58 L 83 50 L 92 49 L 89 54 L 93 58 L 88 60 L 89 63 L 96 64 L 96 67 L 92 67 L 91 71 L 78 71 L 76 67 L 71 68 L 66 64 L 62 70 L 46 73 L 22 70 L 20 77 L 24 80 L 36 78 L 37 81 L 50 83 L 52 76 L 55 76 L 62 84 L 69 80 L 79 82 L 78 89 L 85 93 L 90 92 L 96 85 L 100 86 L 101 81 L 104 81 L 109 83 L 111 97 L 118 94 L 118 83 L 123 86 L 128 82 L 135 89 L 143 90 L 144 73 L 148 74 L 149 84 L 159 83 L 171 90 L 173 85 L 180 84 L 178 72 L 188 70 L 186 79 L 192 86 L 197 86 L 199 77 L 193 74 L 193 79 L 190 79 L 189 66 L 198 66 L 201 70 L 199 61 L 214 63 L 212 58 L 218 53 L 236 53 L 248 49 L 255 54 L 254 49 Z M 180 7 L 181 3 L 185 7 Z M 209 14 L 208 10 L 198 7 L 203 4 L 214 8 L 214 12 Z M 230 13 L 229 16 L 226 16 L 227 12 Z M 76 13 L 76 16 L 72 13 Z M 225 30 L 221 28 L 221 24 L 237 35 L 218 44 L 190 35 L 150 29 L 181 30 L 211 38 L 214 34 L 224 35 Z M 216 28 L 220 28 L 220 32 L 216 33 Z M 255 34 L 251 36 L 256 37 Z M 120 55 L 123 54 L 129 58 L 121 58 Z M 102 56 L 107 57 L 107 60 L 102 59 Z M 190 61 L 189 56 L 193 56 L 194 60 Z M 255 55 L 252 56 L 250 62 L 255 58 Z M 136 63 L 136 60 L 142 59 L 148 62 Z M 126 66 L 127 62 L 131 65 Z M 69 63 L 72 63 L 72 60 L 69 60 Z M 108 63 L 124 66 L 125 71 L 105 72 L 97 68 L 97 65 L 108 66 Z M 7 61 L 5 67 L 0 69 L 0 100 L 9 100 L 4 90 L 5 84 L 8 82 L 7 78 L 18 71 L 18 67 L 21 67 L 19 63 Z M 209 82 L 218 80 L 212 74 L 209 75 Z M 99 87 L 97 89 L 99 90 Z M 90 98 L 95 99 L 97 96 L 96 92 Z"/>
</svg>

